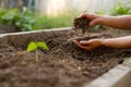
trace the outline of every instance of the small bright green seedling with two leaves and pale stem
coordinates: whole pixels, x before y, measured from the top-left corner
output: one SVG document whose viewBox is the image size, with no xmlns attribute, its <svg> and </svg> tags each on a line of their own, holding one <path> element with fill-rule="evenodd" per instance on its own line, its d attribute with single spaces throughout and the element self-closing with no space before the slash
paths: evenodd
<svg viewBox="0 0 131 87">
<path fill-rule="evenodd" d="M 36 62 L 38 62 L 38 53 L 37 53 L 38 48 L 44 49 L 44 50 L 49 50 L 48 46 L 43 41 L 38 41 L 38 42 L 32 41 L 28 44 L 27 49 L 26 49 L 26 51 L 28 52 L 35 51 Z"/>
</svg>

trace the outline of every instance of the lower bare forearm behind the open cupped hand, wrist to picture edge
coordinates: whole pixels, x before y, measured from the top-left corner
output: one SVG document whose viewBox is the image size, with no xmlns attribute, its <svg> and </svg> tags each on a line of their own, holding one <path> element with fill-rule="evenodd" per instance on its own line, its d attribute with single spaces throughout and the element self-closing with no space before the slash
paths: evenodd
<svg viewBox="0 0 131 87">
<path fill-rule="evenodd" d="M 131 36 L 104 39 L 103 46 L 111 48 L 131 48 Z"/>
</svg>

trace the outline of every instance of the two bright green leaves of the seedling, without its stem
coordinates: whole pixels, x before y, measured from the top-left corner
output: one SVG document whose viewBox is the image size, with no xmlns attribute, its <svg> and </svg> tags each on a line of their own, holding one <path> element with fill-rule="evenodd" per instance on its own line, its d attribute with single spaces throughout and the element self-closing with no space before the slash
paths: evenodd
<svg viewBox="0 0 131 87">
<path fill-rule="evenodd" d="M 34 51 L 34 50 L 37 50 L 38 48 L 41 48 L 44 50 L 49 50 L 48 46 L 43 42 L 43 41 L 38 41 L 38 42 L 29 42 L 29 45 L 27 46 L 27 51 Z"/>
</svg>

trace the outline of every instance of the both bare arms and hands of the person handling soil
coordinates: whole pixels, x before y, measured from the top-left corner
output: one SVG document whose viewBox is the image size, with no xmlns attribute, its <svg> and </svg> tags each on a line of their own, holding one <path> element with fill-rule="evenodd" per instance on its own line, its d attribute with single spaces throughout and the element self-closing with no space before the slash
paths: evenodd
<svg viewBox="0 0 131 87">
<path fill-rule="evenodd" d="M 91 20 L 90 26 L 106 25 L 110 27 L 116 27 L 120 29 L 131 29 L 131 15 L 122 16 L 106 16 L 97 14 L 83 14 L 80 17 L 86 17 Z M 93 50 L 98 47 L 110 47 L 110 48 L 131 48 L 131 36 L 119 37 L 119 38 L 108 38 L 108 39 L 91 39 L 73 41 L 80 48 L 85 50 Z"/>
</svg>

